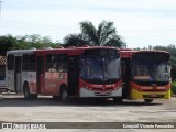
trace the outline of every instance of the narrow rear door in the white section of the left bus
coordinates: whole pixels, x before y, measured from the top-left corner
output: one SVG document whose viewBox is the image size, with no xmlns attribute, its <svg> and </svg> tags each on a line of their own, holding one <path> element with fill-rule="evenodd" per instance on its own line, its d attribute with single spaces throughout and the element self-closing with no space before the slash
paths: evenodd
<svg viewBox="0 0 176 132">
<path fill-rule="evenodd" d="M 22 56 L 15 56 L 15 64 L 14 64 L 14 91 L 22 91 L 21 87 L 21 64 L 22 64 Z"/>
</svg>

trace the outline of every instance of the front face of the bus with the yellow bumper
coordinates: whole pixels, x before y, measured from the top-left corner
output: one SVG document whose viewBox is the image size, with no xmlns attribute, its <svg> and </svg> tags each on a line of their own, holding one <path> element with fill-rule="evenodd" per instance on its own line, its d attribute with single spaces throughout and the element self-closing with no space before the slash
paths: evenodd
<svg viewBox="0 0 176 132">
<path fill-rule="evenodd" d="M 170 67 L 167 53 L 134 54 L 130 96 L 132 99 L 170 98 Z"/>
</svg>

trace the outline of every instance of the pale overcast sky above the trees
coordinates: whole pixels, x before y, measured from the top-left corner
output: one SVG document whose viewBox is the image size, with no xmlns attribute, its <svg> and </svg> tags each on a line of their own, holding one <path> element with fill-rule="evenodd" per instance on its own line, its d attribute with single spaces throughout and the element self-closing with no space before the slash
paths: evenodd
<svg viewBox="0 0 176 132">
<path fill-rule="evenodd" d="M 79 22 L 112 21 L 129 48 L 176 44 L 176 0 L 0 0 L 0 35 L 63 42 Z"/>
</svg>

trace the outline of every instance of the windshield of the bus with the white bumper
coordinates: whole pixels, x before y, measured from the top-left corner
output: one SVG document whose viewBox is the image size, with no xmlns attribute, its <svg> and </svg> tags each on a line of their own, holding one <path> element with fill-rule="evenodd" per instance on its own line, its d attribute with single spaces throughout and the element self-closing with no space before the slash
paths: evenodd
<svg viewBox="0 0 176 132">
<path fill-rule="evenodd" d="M 118 79 L 120 72 L 120 58 L 85 57 L 81 59 L 80 77 L 84 79 Z"/>
</svg>

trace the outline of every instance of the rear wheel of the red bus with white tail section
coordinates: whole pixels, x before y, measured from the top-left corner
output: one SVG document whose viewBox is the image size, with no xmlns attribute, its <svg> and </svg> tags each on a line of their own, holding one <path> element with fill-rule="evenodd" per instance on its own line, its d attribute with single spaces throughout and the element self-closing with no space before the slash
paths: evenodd
<svg viewBox="0 0 176 132">
<path fill-rule="evenodd" d="M 24 84 L 23 86 L 23 94 L 25 99 L 36 99 L 37 94 L 30 94 L 30 88 L 28 84 Z"/>
</svg>

